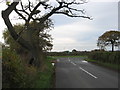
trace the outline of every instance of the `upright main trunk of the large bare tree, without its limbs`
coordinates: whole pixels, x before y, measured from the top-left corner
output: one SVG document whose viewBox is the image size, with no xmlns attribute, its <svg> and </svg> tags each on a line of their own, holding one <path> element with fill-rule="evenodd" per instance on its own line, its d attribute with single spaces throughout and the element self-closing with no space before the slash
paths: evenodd
<svg viewBox="0 0 120 90">
<path fill-rule="evenodd" d="M 30 43 L 32 46 L 30 52 L 31 52 L 31 58 L 33 58 L 33 65 L 37 68 L 40 68 L 43 66 L 43 51 L 42 47 L 39 45 L 39 32 L 36 30 L 32 30 L 31 28 L 28 27 L 28 30 L 26 32 L 27 41 Z"/>
</svg>

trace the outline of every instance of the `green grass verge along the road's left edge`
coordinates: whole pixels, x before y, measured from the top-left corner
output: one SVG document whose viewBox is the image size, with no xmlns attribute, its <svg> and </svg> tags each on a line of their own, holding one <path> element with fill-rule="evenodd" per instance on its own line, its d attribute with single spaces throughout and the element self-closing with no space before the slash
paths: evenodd
<svg viewBox="0 0 120 90">
<path fill-rule="evenodd" d="M 37 73 L 35 88 L 54 88 L 54 66 L 50 60 L 54 58 L 47 57 L 43 71 Z"/>
</svg>

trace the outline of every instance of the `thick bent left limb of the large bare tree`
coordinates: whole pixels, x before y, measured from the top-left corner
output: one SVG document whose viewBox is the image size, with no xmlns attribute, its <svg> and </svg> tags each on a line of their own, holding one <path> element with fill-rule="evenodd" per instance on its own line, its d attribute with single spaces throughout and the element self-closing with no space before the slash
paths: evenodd
<svg viewBox="0 0 120 90">
<path fill-rule="evenodd" d="M 24 48 L 30 50 L 31 46 L 29 43 L 27 43 L 23 38 L 21 38 L 14 30 L 13 25 L 10 22 L 9 15 L 10 13 L 15 10 L 16 6 L 18 5 L 18 2 L 13 2 L 6 10 L 2 11 L 2 18 L 11 34 L 13 39 L 17 41 L 20 45 L 22 45 Z M 27 43 L 27 44 L 26 44 Z"/>
</svg>

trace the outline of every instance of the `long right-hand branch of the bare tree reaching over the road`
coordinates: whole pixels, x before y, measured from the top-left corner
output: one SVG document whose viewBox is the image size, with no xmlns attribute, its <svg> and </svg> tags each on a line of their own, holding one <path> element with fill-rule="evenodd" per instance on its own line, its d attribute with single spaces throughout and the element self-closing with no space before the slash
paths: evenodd
<svg viewBox="0 0 120 90">
<path fill-rule="evenodd" d="M 48 13 L 45 17 L 49 18 L 52 14 L 64 14 L 69 17 L 82 17 L 87 19 L 92 19 L 85 15 L 85 10 L 80 10 L 77 8 L 73 8 L 71 5 L 80 5 L 86 3 L 86 0 L 80 0 L 81 2 L 77 2 L 77 0 L 72 0 L 70 2 L 66 0 L 56 0 L 59 4 L 58 7 L 54 7 L 50 13 Z M 79 13 L 78 13 L 79 12 Z M 81 12 L 81 14 L 80 14 Z"/>
</svg>

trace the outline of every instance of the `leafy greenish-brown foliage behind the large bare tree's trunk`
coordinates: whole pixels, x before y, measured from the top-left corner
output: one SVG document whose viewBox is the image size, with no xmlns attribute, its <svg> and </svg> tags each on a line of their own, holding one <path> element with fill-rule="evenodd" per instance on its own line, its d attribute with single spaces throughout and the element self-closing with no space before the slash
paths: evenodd
<svg viewBox="0 0 120 90">
<path fill-rule="evenodd" d="M 37 29 L 39 28 L 38 23 L 35 22 L 31 22 L 31 29 Z M 43 51 L 48 51 L 52 49 L 52 38 L 51 35 L 48 34 L 49 30 L 48 28 L 50 28 L 50 26 L 48 27 L 47 25 L 44 25 L 44 30 L 41 30 L 41 32 L 39 33 L 39 38 L 35 38 L 34 35 L 34 43 L 39 43 L 39 45 L 42 47 Z M 14 29 L 17 33 L 21 33 L 22 30 L 24 30 L 24 24 L 16 24 L 14 25 Z M 26 51 L 25 48 L 23 48 L 21 45 L 19 45 L 19 43 L 17 43 L 10 35 L 9 31 L 7 29 L 4 30 L 3 32 L 3 37 L 5 40 L 5 43 L 7 45 L 9 45 L 10 49 L 15 50 L 18 53 L 23 53 L 24 51 Z M 23 33 L 21 33 L 22 38 L 24 38 L 26 41 L 28 40 L 28 36 L 26 34 L 26 32 L 24 31 Z"/>
</svg>

